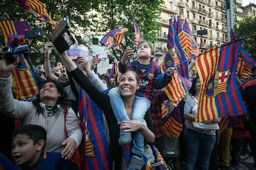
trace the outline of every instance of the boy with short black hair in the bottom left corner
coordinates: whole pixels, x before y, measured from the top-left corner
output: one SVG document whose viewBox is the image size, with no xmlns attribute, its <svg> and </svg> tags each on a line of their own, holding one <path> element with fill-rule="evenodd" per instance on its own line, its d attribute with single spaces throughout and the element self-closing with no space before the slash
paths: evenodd
<svg viewBox="0 0 256 170">
<path fill-rule="evenodd" d="M 28 124 L 12 135 L 12 157 L 21 169 L 79 169 L 61 153 L 45 152 L 46 131 L 43 127 Z"/>
</svg>

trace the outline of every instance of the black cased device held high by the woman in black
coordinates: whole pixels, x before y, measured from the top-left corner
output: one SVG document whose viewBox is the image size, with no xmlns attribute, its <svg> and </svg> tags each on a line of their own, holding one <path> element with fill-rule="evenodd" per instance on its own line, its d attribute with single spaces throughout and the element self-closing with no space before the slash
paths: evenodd
<svg viewBox="0 0 256 170">
<path fill-rule="evenodd" d="M 75 39 L 69 32 L 69 17 L 65 17 L 56 26 L 53 31 L 53 45 L 58 50 L 59 54 L 68 50 L 69 47 L 74 44 Z"/>
</svg>

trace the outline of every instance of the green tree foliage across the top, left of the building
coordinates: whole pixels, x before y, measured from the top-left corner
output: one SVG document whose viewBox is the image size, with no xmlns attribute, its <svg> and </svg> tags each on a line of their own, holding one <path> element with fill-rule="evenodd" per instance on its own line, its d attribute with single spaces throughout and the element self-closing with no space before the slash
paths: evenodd
<svg viewBox="0 0 256 170">
<path fill-rule="evenodd" d="M 124 34 L 121 49 L 132 47 L 134 41 L 134 27 L 132 18 L 139 25 L 140 32 L 145 39 L 151 42 L 157 40 L 160 24 L 156 22 L 159 17 L 159 0 L 41 0 L 46 4 L 46 10 L 53 20 L 58 22 L 66 15 L 70 18 L 70 31 L 75 34 L 79 43 L 89 46 L 91 42 L 83 41 L 86 36 L 103 36 L 113 28 L 128 28 Z M 0 2 L 0 20 L 27 20 L 30 28 L 42 28 L 43 37 L 33 39 L 30 51 L 32 63 L 37 65 L 44 62 L 45 42 L 50 41 L 49 32 L 52 25 L 32 17 L 15 0 L 2 0 Z M 97 13 L 98 12 L 98 13 Z M 4 37 L 0 32 L 0 46 L 4 46 Z M 113 55 L 109 59 L 120 59 L 122 52 L 111 49 Z M 53 56 L 52 56 L 53 55 Z M 54 54 L 51 54 L 51 62 L 56 62 Z"/>
</svg>

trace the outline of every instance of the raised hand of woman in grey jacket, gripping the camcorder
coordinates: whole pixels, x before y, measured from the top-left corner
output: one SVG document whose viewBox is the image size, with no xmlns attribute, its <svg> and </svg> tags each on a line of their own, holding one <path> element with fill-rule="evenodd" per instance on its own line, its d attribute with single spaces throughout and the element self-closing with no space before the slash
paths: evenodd
<svg viewBox="0 0 256 170">
<path fill-rule="evenodd" d="M 19 63 L 19 57 L 17 57 L 13 63 L 9 63 L 4 57 L 2 58 L 2 61 L 0 62 L 0 78 L 7 78 L 12 70 L 14 70 L 15 67 L 17 67 Z"/>
</svg>

